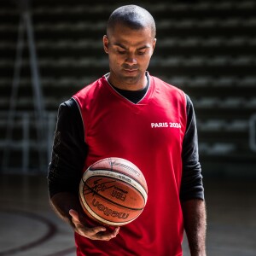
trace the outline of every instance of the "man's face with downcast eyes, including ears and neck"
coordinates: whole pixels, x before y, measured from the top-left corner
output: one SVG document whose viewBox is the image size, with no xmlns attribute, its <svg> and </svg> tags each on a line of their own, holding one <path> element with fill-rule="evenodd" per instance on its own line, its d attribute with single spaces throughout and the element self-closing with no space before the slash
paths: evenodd
<svg viewBox="0 0 256 256">
<path fill-rule="evenodd" d="M 126 90 L 143 88 L 156 41 L 151 34 L 150 27 L 134 30 L 118 24 L 108 37 L 103 37 L 109 59 L 109 80 L 114 86 Z"/>
</svg>

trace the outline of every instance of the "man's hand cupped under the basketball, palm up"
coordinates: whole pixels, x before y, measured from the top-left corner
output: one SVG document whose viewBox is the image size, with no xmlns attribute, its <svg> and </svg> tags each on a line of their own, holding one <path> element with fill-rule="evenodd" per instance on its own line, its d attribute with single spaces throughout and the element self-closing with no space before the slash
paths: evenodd
<svg viewBox="0 0 256 256">
<path fill-rule="evenodd" d="M 107 231 L 104 226 L 96 226 L 93 228 L 86 227 L 85 224 L 81 222 L 82 219 L 79 218 L 78 212 L 70 210 L 69 214 L 72 217 L 74 230 L 79 233 L 79 235 L 87 237 L 91 240 L 109 241 L 119 233 L 119 227 L 115 228 L 113 231 Z"/>
</svg>

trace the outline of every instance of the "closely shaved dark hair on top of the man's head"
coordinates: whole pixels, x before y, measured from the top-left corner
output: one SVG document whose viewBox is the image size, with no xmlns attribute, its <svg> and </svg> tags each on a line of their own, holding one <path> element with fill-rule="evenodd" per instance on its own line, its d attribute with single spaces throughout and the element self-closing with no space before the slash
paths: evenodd
<svg viewBox="0 0 256 256">
<path fill-rule="evenodd" d="M 108 19 L 108 37 L 111 36 L 111 32 L 113 32 L 116 24 L 121 24 L 134 30 L 149 27 L 151 29 L 152 38 L 155 37 L 156 29 L 154 18 L 148 13 L 146 9 L 143 9 L 137 5 L 121 6 L 113 11 Z"/>
</svg>

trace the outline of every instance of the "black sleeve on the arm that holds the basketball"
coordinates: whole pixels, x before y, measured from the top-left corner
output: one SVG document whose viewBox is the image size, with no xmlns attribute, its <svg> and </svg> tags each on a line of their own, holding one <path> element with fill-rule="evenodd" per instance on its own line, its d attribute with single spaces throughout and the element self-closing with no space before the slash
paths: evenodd
<svg viewBox="0 0 256 256">
<path fill-rule="evenodd" d="M 77 103 L 60 105 L 48 172 L 49 196 L 59 192 L 78 193 L 87 147 L 84 125 Z"/>
</svg>

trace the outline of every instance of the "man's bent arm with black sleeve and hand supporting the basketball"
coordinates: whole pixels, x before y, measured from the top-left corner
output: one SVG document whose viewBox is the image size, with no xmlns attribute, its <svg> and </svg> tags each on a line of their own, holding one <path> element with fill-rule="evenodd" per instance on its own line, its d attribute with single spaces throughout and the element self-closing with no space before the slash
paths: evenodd
<svg viewBox="0 0 256 256">
<path fill-rule="evenodd" d="M 79 182 L 86 154 L 79 108 L 76 102 L 69 100 L 61 104 L 58 113 L 48 173 L 50 204 L 79 235 L 108 241 L 118 234 L 119 229 L 106 231 L 103 226 L 89 226 L 89 219 L 79 203 Z"/>
</svg>

